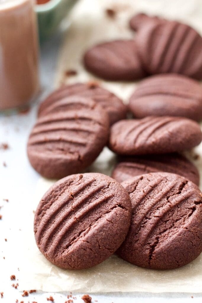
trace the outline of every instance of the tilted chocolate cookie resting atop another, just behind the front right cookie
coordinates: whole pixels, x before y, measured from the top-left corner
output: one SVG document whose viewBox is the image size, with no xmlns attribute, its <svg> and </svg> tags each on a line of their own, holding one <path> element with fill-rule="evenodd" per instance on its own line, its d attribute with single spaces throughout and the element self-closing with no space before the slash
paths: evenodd
<svg viewBox="0 0 202 303">
<path fill-rule="evenodd" d="M 202 132 L 195 121 L 151 116 L 112 125 L 109 147 L 121 155 L 165 154 L 193 148 L 201 140 Z"/>
</svg>

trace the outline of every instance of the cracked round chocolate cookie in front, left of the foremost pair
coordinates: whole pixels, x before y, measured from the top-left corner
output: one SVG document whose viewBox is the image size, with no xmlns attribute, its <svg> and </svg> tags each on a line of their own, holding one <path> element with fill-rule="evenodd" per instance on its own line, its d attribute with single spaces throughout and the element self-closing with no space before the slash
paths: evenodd
<svg viewBox="0 0 202 303">
<path fill-rule="evenodd" d="M 35 212 L 39 250 L 65 269 L 97 265 L 124 241 L 131 221 L 127 191 L 99 173 L 71 175 L 45 193 Z"/>
</svg>

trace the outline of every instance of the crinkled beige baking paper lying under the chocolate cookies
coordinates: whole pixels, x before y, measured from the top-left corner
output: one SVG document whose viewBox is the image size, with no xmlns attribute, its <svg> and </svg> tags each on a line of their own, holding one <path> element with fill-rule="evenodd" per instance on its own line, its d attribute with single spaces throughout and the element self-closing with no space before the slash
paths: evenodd
<svg viewBox="0 0 202 303">
<path fill-rule="evenodd" d="M 106 15 L 106 8 L 113 8 L 116 11 L 114 18 Z M 133 13 L 139 11 L 183 20 L 202 33 L 200 0 L 80 1 L 71 15 L 72 23 L 61 48 L 55 86 L 62 83 L 95 80 L 96 78 L 85 72 L 82 66 L 84 50 L 95 42 L 132 37 L 134 33 L 128 29 L 128 19 Z M 69 69 L 76 70 L 78 74 L 66 77 L 65 72 Z M 125 102 L 135 86 L 134 83 L 104 82 L 100 79 L 97 81 L 115 92 Z M 202 154 L 202 145 L 195 151 L 189 152 L 190 158 L 193 158 L 195 152 Z M 113 153 L 105 148 L 88 171 L 110 174 L 113 163 Z M 195 164 L 202 172 L 201 157 L 195 160 Z M 37 197 L 34 201 L 35 207 L 51 184 L 52 182 L 45 179 L 39 180 Z M 195 261 L 176 270 L 157 271 L 139 268 L 121 260 L 116 255 L 88 270 L 62 270 L 52 265 L 38 251 L 32 222 L 33 214 L 28 219 L 26 248 L 22 252 L 25 255 L 20 270 L 23 289 L 81 292 L 202 292 L 202 254 Z"/>
</svg>

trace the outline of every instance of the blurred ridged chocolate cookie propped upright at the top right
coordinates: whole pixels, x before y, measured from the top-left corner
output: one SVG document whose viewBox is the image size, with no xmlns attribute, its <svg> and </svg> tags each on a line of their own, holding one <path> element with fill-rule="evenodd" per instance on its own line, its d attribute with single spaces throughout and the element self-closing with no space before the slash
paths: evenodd
<svg viewBox="0 0 202 303">
<path fill-rule="evenodd" d="M 177 73 L 202 79 L 202 37 L 189 25 L 147 20 L 139 25 L 135 41 L 148 74 Z"/>
</svg>

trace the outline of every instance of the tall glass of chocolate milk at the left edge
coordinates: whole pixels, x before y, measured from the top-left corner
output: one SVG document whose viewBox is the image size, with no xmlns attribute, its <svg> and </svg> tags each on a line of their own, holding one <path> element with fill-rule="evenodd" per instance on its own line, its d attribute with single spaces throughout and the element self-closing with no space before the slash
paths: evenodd
<svg viewBox="0 0 202 303">
<path fill-rule="evenodd" d="M 34 0 L 0 0 L 0 110 L 26 104 L 37 91 Z"/>
</svg>

